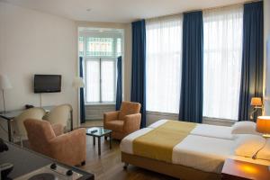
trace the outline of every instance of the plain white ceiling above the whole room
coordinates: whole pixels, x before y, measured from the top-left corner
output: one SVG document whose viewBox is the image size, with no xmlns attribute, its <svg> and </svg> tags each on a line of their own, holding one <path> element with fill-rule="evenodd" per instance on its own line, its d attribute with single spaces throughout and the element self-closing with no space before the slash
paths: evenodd
<svg viewBox="0 0 270 180">
<path fill-rule="evenodd" d="M 76 21 L 130 23 L 247 0 L 0 0 Z M 91 11 L 86 11 L 91 9 Z"/>
</svg>

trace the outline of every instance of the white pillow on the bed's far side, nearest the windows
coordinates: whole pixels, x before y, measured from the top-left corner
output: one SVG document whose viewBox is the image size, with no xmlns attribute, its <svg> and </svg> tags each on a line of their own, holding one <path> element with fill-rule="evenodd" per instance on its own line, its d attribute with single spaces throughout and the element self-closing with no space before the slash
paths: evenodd
<svg viewBox="0 0 270 180">
<path fill-rule="evenodd" d="M 257 134 L 256 123 L 253 121 L 238 121 L 232 126 L 231 134 Z"/>
</svg>

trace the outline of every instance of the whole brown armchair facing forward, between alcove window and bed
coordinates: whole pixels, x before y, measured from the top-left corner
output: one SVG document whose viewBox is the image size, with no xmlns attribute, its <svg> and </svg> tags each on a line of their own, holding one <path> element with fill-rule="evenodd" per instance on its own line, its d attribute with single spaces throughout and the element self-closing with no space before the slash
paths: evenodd
<svg viewBox="0 0 270 180">
<path fill-rule="evenodd" d="M 139 130 L 140 103 L 122 102 L 120 111 L 103 114 L 105 129 L 112 130 L 112 138 L 123 139 L 131 132 Z"/>
</svg>

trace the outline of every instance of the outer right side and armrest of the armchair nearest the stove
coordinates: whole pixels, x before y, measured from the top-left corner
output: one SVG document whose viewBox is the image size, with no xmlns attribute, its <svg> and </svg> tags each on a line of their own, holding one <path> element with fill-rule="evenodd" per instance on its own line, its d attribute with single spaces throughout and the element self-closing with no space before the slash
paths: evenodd
<svg viewBox="0 0 270 180">
<path fill-rule="evenodd" d="M 49 141 L 51 155 L 59 162 L 75 166 L 85 161 L 86 135 L 85 129 L 80 128 L 62 134 Z"/>
</svg>

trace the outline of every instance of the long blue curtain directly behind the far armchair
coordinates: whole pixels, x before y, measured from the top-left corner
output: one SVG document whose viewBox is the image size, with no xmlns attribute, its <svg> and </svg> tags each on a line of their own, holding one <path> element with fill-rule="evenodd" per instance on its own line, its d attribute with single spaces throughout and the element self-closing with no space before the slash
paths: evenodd
<svg viewBox="0 0 270 180">
<path fill-rule="evenodd" d="M 131 94 L 132 102 L 141 104 L 140 127 L 146 126 L 146 30 L 145 21 L 132 23 L 132 72 Z"/>
</svg>

